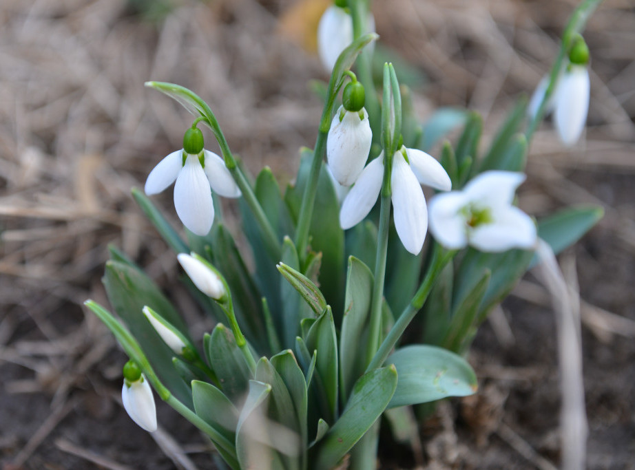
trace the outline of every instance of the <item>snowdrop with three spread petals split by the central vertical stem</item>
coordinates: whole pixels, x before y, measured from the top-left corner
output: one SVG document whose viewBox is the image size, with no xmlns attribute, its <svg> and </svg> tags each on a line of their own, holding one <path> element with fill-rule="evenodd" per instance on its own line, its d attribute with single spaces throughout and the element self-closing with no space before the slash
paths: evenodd
<svg viewBox="0 0 635 470">
<path fill-rule="evenodd" d="M 346 195 L 340 210 L 342 228 L 355 226 L 373 209 L 382 189 L 383 177 L 382 153 L 366 165 L 355 186 Z M 448 173 L 435 158 L 423 151 L 402 147 L 393 156 L 392 202 L 397 235 L 404 248 L 413 255 L 421 251 L 428 231 L 428 209 L 421 184 L 441 191 L 449 191 L 452 188 Z"/>
</svg>

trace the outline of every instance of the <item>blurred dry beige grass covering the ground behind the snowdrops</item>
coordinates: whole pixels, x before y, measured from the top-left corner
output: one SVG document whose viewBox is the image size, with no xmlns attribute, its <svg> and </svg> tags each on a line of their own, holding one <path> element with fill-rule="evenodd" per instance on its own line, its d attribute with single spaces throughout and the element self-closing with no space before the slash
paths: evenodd
<svg viewBox="0 0 635 470">
<path fill-rule="evenodd" d="M 45 421 L 41 434 L 30 441 L 14 442 L 11 426 L 0 427 L 0 447 L 14 464 L 50 438 L 76 406 L 77 389 L 91 389 L 91 370 L 117 377 L 118 364 L 107 359 L 112 339 L 79 308 L 86 297 L 103 299 L 106 245 L 142 259 L 152 277 L 175 277 L 173 257 L 140 217 L 129 189 L 180 147 L 190 116 L 144 89 L 144 81 L 180 83 L 200 94 L 251 171 L 267 164 L 289 180 L 298 148 L 313 144 L 321 105 L 306 84 L 324 73 L 315 57 L 277 33 L 294 2 L 174 3 L 155 24 L 123 0 L 0 2 L 0 361 L 22 370 L 10 378 L 3 372 L 2 396 L 3 403 L 12 394 L 52 399 L 49 418 L 37 420 Z M 439 105 L 468 105 L 492 133 L 514 96 L 531 92 L 548 70 L 574 4 L 378 0 L 374 9 L 384 43 L 428 76 L 415 90 L 421 118 Z M 627 0 L 606 1 L 591 19 L 585 142 L 563 151 L 545 125 L 532 145 L 522 200 L 537 214 L 601 204 L 603 231 L 631 254 L 634 205 L 614 206 L 616 195 L 598 197 L 569 175 L 635 172 L 634 32 Z M 169 195 L 160 201 L 170 207 Z M 171 209 L 167 214 L 175 220 Z M 110 462 L 90 452 L 82 457 L 65 440 L 58 448 Z"/>
</svg>

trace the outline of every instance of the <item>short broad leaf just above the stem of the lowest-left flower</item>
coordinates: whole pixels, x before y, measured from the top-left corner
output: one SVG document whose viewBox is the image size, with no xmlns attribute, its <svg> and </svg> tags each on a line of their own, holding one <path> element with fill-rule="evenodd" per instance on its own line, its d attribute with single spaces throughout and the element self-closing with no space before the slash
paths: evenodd
<svg viewBox="0 0 635 470">
<path fill-rule="evenodd" d="M 227 396 L 210 383 L 193 381 L 191 386 L 196 414 L 229 442 L 235 442 L 238 409 Z"/>
</svg>

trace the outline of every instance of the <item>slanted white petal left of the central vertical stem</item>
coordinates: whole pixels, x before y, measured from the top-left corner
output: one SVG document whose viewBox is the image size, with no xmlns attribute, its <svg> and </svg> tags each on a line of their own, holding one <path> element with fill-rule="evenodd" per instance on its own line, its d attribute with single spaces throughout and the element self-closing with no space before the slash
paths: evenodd
<svg viewBox="0 0 635 470">
<path fill-rule="evenodd" d="M 384 156 L 382 154 L 366 165 L 360 177 L 357 178 L 355 186 L 344 198 L 344 204 L 340 209 L 340 225 L 344 230 L 362 222 L 373 209 L 379 191 L 382 190 L 383 178 Z"/>
</svg>

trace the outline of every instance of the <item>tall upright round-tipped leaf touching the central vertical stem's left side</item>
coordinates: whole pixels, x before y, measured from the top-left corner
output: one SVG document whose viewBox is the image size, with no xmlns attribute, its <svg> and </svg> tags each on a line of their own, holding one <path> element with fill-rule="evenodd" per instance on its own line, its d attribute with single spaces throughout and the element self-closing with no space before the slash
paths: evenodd
<svg viewBox="0 0 635 470">
<path fill-rule="evenodd" d="M 348 258 L 346 275 L 346 301 L 340 332 L 340 393 L 342 400 L 348 397 L 353 384 L 366 370 L 366 348 L 363 347 L 364 331 L 368 330 L 371 310 L 373 273 L 362 261 Z"/>
</svg>

